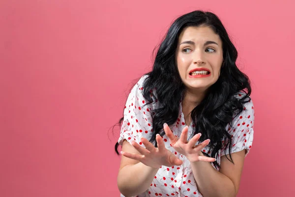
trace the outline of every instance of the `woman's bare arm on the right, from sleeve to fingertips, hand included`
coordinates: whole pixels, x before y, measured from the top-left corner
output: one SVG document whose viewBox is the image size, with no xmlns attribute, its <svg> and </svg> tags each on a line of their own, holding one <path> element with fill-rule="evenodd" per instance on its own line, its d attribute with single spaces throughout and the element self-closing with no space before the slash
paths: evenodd
<svg viewBox="0 0 295 197">
<path fill-rule="evenodd" d="M 187 126 L 182 130 L 179 139 L 173 134 L 167 124 L 164 124 L 164 131 L 169 137 L 173 148 L 178 153 L 186 156 L 188 161 L 190 161 L 198 190 L 204 197 L 236 196 L 244 164 L 245 151 L 231 154 L 235 164 L 231 163 L 225 156 L 222 156 L 220 158 L 220 171 L 217 171 L 210 164 L 215 159 L 205 157 L 201 151 L 208 145 L 209 139 L 196 145 L 201 137 L 201 133 L 198 133 L 187 141 Z M 238 138 L 241 142 L 244 142 L 242 137 Z M 238 143 L 238 145 L 240 146 L 241 144 Z"/>
</svg>

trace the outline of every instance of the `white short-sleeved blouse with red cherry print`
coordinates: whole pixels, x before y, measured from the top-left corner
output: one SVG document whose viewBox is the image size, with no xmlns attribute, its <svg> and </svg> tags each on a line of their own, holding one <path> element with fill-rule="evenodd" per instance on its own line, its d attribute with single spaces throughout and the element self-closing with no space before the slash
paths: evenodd
<svg viewBox="0 0 295 197">
<path fill-rule="evenodd" d="M 143 82 L 146 76 L 143 76 L 138 83 L 131 90 L 126 104 L 124 106 L 124 120 L 122 123 L 120 137 L 118 143 L 122 144 L 123 140 L 131 142 L 134 140 L 140 146 L 145 147 L 140 141 L 141 137 L 150 139 L 153 132 L 151 113 L 153 109 L 158 107 L 158 102 L 148 104 L 148 101 L 144 99 Z M 152 90 L 152 93 L 156 92 Z M 238 94 L 236 97 L 242 97 L 243 93 Z M 173 133 L 179 137 L 182 129 L 185 127 L 185 121 L 183 118 L 181 102 L 179 105 L 179 116 L 175 124 L 170 128 Z M 253 141 L 253 124 L 254 124 L 254 107 L 252 101 L 244 104 L 244 110 L 241 114 L 238 114 L 233 118 L 231 125 L 228 125 L 225 129 L 232 136 L 232 149 L 231 152 L 238 152 L 246 149 L 247 154 L 252 146 Z M 197 125 L 191 124 L 188 130 L 188 136 L 193 132 Z M 152 183 L 148 190 L 142 194 L 138 194 L 137 197 L 202 197 L 202 194 L 197 188 L 193 173 L 191 171 L 190 163 L 185 156 L 179 154 L 174 150 L 170 144 L 169 138 L 164 135 L 162 137 L 165 147 L 171 151 L 176 157 L 183 161 L 181 166 L 162 166 L 156 173 Z M 224 138 L 222 141 L 222 149 L 218 152 L 217 163 L 220 164 L 220 157 L 228 154 L 229 148 L 225 149 L 228 139 Z M 199 143 L 199 142 L 198 142 Z M 197 143 L 197 144 L 198 144 Z M 205 147 L 203 152 L 211 154 L 212 150 Z M 214 165 L 211 163 L 214 167 Z M 215 168 L 219 170 L 219 168 Z M 132 173 L 132 172 L 130 172 Z M 121 195 L 123 197 L 123 195 Z"/>
</svg>

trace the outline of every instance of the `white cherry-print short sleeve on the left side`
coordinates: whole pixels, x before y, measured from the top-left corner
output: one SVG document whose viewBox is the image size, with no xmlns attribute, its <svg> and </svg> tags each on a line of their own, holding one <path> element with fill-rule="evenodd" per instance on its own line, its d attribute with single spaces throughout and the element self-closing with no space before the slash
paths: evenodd
<svg viewBox="0 0 295 197">
<path fill-rule="evenodd" d="M 126 139 L 129 143 L 131 140 L 136 141 L 145 147 L 140 141 L 142 137 L 150 139 L 152 132 L 152 104 L 147 104 L 143 96 L 143 82 L 146 76 L 143 76 L 138 83 L 132 88 L 128 95 L 125 108 L 124 119 L 121 126 L 118 143 L 122 145 Z"/>
</svg>

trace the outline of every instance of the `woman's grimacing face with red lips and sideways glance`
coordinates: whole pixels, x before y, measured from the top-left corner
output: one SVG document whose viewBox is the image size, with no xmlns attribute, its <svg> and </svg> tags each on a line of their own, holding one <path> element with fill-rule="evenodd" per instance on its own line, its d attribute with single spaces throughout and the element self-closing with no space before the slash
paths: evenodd
<svg viewBox="0 0 295 197">
<path fill-rule="evenodd" d="M 188 90 L 206 91 L 217 81 L 222 53 L 222 41 L 209 27 L 187 27 L 180 33 L 176 61 Z"/>
</svg>

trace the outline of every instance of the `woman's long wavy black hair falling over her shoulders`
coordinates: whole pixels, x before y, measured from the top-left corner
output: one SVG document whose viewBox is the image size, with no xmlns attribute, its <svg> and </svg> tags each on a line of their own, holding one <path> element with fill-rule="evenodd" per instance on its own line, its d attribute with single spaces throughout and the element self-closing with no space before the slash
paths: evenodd
<svg viewBox="0 0 295 197">
<path fill-rule="evenodd" d="M 176 64 L 179 34 L 186 27 L 201 26 L 211 28 L 221 38 L 224 63 L 216 83 L 208 89 L 205 99 L 192 110 L 191 119 L 195 125 L 193 134 L 202 133 L 200 143 L 210 139 L 208 146 L 212 153 L 211 155 L 204 154 L 217 159 L 224 138 L 226 139 L 226 148 L 229 146 L 231 152 L 231 135 L 226 131 L 226 126 L 242 112 L 243 104 L 250 100 L 251 87 L 247 75 L 236 66 L 236 47 L 215 14 L 196 10 L 180 16 L 173 22 L 158 48 L 152 70 L 147 73 L 148 77 L 143 85 L 143 96 L 148 100 L 147 104 L 155 102 L 156 99 L 161 103 L 160 108 L 154 109 L 154 113 L 151 113 L 154 132 L 152 132 L 149 141 L 157 147 L 156 134 L 159 133 L 163 136 L 165 134 L 164 131 L 161 131 L 163 124 L 167 123 L 171 126 L 177 121 L 179 101 L 184 98 L 186 93 Z M 150 90 L 155 90 L 155 94 Z M 245 94 L 237 99 L 236 95 L 239 92 Z M 122 121 L 123 118 L 119 120 L 118 124 L 121 125 Z M 117 142 L 115 145 L 117 154 L 118 145 Z M 229 160 L 234 163 L 231 154 Z M 213 164 L 215 167 L 220 167 L 217 162 Z"/>
</svg>

